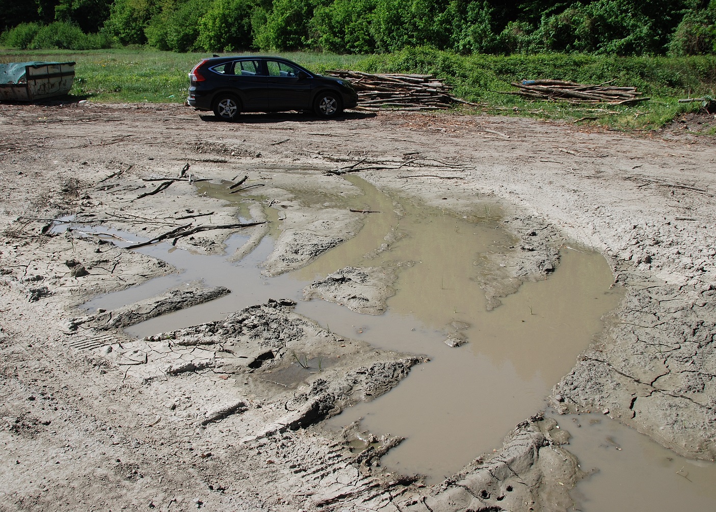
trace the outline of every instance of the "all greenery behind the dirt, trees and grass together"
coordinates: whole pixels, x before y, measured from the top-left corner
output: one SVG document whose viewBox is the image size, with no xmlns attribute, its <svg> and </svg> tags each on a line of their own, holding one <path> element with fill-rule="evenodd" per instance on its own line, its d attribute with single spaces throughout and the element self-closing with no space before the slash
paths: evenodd
<svg viewBox="0 0 716 512">
<path fill-rule="evenodd" d="M 0 62 L 73 60 L 70 95 L 181 102 L 207 54 L 435 74 L 485 112 L 653 129 L 716 96 L 716 0 L 0 0 Z M 522 79 L 638 87 L 616 107 L 505 95 Z M 711 103 L 710 105 L 713 105 Z M 716 120 L 698 128 L 716 135 Z"/>
</svg>

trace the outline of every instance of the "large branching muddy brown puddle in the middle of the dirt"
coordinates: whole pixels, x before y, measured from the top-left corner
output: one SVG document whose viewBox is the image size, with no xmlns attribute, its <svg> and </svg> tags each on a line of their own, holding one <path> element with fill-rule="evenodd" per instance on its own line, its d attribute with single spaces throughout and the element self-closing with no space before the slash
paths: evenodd
<svg viewBox="0 0 716 512">
<path fill-rule="evenodd" d="M 610 288 L 613 279 L 601 255 L 576 246 L 564 247 L 561 264 L 549 279 L 523 284 L 516 294 L 502 299 L 501 306 L 486 311 L 485 296 L 478 284 L 480 276 L 491 271 L 485 268 L 485 256 L 511 251 L 515 243 L 499 228 L 498 212 L 483 208 L 472 215 L 455 216 L 391 198 L 359 178 L 349 180 L 362 193 L 344 197 L 294 191 L 304 205 L 339 205 L 372 212 L 364 213 L 364 226 L 357 236 L 303 269 L 270 278 L 261 275 L 259 266 L 273 251 L 272 236 L 281 227 L 281 207 L 274 206 L 268 214 L 274 221 L 271 236 L 264 237 L 241 261 L 193 254 L 167 243 L 141 248 L 139 251 L 185 270 L 98 297 L 87 306 L 110 309 L 200 279 L 207 286 L 227 286 L 232 292 L 137 324 L 127 332 L 136 337 L 167 332 L 221 319 L 231 311 L 269 298 L 285 297 L 298 301 L 297 312 L 334 333 L 363 339 L 383 349 L 427 355 L 430 362 L 415 367 L 395 390 L 345 410 L 326 422 L 326 428 L 338 430 L 360 419 L 362 428 L 371 433 L 404 437 L 403 443 L 382 458 L 382 465 L 400 473 L 420 473 L 426 476 L 427 483 L 437 483 L 481 453 L 500 448 L 505 433 L 545 407 L 544 397 L 551 386 L 569 372 L 577 354 L 601 331 L 601 317 L 614 309 L 620 294 Z M 225 184 L 206 184 L 202 193 L 235 199 L 226 194 Z M 265 198 L 253 200 L 262 199 Z M 233 254 L 247 240 L 246 236 L 233 236 L 226 243 L 226 253 Z M 300 300 L 304 286 L 346 266 L 390 266 L 396 270 L 396 293 L 387 300 L 387 313 L 357 314 L 318 299 Z M 448 347 L 445 339 L 456 335 L 467 343 Z M 319 371 L 331 371 L 329 354 L 321 359 L 311 354 L 304 363 L 311 368 L 324 366 Z M 294 367 L 295 372 L 281 376 L 281 385 L 294 386 L 305 378 L 301 364 Z M 580 421 L 583 430 L 575 436 L 573 446 L 581 458 L 579 443 L 597 443 L 604 437 L 599 428 L 607 424 L 585 428 L 586 420 Z M 622 443 L 632 445 L 632 441 Z M 584 510 L 606 509 L 601 505 L 602 495 L 616 492 L 610 489 L 620 480 L 611 476 L 620 474 L 620 460 L 594 456 L 598 452 L 599 449 L 584 449 L 584 463 L 602 469 L 579 486 L 579 502 L 590 507 Z M 668 450 L 664 453 L 677 460 Z M 634 468 L 624 467 L 629 468 L 627 472 L 643 472 L 663 463 L 667 455 L 651 450 L 630 460 Z M 634 483 L 638 485 L 644 484 Z M 643 486 L 640 491 L 644 493 Z M 611 504 L 609 508 L 621 510 Z"/>
</svg>

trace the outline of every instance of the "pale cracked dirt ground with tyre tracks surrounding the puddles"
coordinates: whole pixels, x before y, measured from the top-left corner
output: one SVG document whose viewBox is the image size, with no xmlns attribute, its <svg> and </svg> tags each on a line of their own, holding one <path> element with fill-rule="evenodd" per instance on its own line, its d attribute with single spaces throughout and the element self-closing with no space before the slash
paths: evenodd
<svg viewBox="0 0 716 512">
<path fill-rule="evenodd" d="M 540 415 L 504 433 L 502 450 L 475 453 L 432 487 L 382 470 L 380 456 L 400 439 L 357 426 L 321 430 L 316 422 L 389 391 L 423 359 L 339 337 L 281 297 L 147 339 L 121 327 L 226 290 L 193 284 L 121 311 L 79 311 L 95 294 L 173 269 L 53 221 L 74 216 L 145 238 L 179 228 L 168 240 L 235 225 L 237 208 L 196 193 L 192 181 L 203 178 L 228 184 L 246 175 L 238 188 L 260 185 L 269 198 L 247 203 L 253 221 L 269 220 L 265 206 L 278 211 L 266 275 L 299 268 L 359 230 L 363 213 L 306 206 L 291 193 L 356 194 L 335 173 L 359 169 L 377 188 L 430 206 L 461 213 L 488 201 L 500 211 L 521 257 L 504 256 L 520 264 L 498 266 L 483 283 L 490 307 L 553 270 L 561 243 L 595 248 L 625 296 L 555 384 L 551 404 L 604 412 L 681 455 L 716 457 L 712 138 L 678 125 L 624 134 L 455 113 L 243 115 L 228 124 L 179 105 L 92 102 L 4 105 L 0 133 L 1 510 L 571 506 L 581 471 L 563 431 Z M 242 229 L 251 240 L 234 257 L 273 228 Z M 221 253 L 234 231 L 195 231 L 175 243 Z M 311 293 L 359 299 L 355 309 L 379 313 L 391 279 L 345 271 Z M 376 282 L 379 296 L 359 289 Z M 291 358 L 301 354 L 337 371 L 296 375 L 303 365 Z M 349 450 L 361 440 L 363 450 Z"/>
</svg>

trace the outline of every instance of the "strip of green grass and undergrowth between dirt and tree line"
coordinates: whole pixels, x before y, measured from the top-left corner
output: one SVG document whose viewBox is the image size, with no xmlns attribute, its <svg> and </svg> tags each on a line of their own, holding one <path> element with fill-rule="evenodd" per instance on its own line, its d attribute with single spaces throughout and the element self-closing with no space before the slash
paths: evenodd
<svg viewBox="0 0 716 512">
<path fill-rule="evenodd" d="M 716 96 L 716 56 L 611 57 L 581 54 L 470 55 L 434 49 L 406 49 L 394 54 L 337 55 L 312 52 L 281 53 L 316 72 L 355 69 L 366 72 L 434 73 L 465 100 L 486 105 L 498 115 L 531 116 L 599 124 L 622 130 L 662 127 L 682 112 L 699 110 L 695 103 L 678 104 L 682 97 Z M 74 60 L 76 77 L 70 95 L 96 102 L 169 102 L 186 97 L 187 74 L 208 57 L 153 49 L 21 51 L 4 49 L 0 62 Z M 633 106 L 569 105 L 526 100 L 500 91 L 514 90 L 522 79 L 567 79 L 617 86 L 636 86 L 652 100 Z"/>
</svg>

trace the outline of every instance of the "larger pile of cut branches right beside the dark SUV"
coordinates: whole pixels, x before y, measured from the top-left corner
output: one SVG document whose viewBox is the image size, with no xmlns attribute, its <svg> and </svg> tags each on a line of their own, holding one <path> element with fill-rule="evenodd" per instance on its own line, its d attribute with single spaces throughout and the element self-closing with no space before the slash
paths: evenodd
<svg viewBox="0 0 716 512">
<path fill-rule="evenodd" d="M 455 103 L 473 105 L 450 94 L 450 87 L 433 74 L 369 74 L 359 71 L 334 70 L 332 77 L 352 83 L 358 93 L 358 109 L 377 112 L 390 107 L 395 110 L 443 110 Z"/>
</svg>

